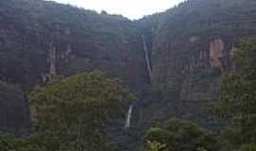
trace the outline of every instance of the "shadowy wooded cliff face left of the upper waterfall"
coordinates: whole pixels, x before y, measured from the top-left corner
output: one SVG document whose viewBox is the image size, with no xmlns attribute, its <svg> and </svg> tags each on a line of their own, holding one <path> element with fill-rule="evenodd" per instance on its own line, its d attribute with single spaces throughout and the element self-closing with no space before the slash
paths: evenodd
<svg viewBox="0 0 256 151">
<path fill-rule="evenodd" d="M 29 92 L 52 76 L 93 70 L 119 77 L 134 92 L 149 82 L 142 40 L 134 23 L 121 16 L 42 0 L 0 1 L 1 80 Z M 1 108 L 13 115 L 28 110 L 21 106 L 23 97 L 11 105 L 16 110 L 9 108 L 4 95 L 0 99 Z M 20 126 L 15 116 L 9 117 L 0 121 L 16 121 L 10 127 Z"/>
</svg>

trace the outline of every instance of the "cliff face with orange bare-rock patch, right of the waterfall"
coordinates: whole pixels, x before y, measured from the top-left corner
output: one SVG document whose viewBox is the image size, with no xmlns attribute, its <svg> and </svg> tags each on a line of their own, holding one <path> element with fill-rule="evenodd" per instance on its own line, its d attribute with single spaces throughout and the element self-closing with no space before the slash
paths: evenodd
<svg viewBox="0 0 256 151">
<path fill-rule="evenodd" d="M 218 100 L 219 77 L 234 69 L 234 51 L 243 39 L 255 37 L 255 12 L 253 0 L 190 0 L 137 21 L 156 92 L 138 107 L 141 121 L 175 115 L 214 126 L 206 107 Z"/>
</svg>

